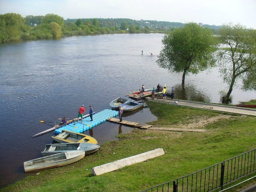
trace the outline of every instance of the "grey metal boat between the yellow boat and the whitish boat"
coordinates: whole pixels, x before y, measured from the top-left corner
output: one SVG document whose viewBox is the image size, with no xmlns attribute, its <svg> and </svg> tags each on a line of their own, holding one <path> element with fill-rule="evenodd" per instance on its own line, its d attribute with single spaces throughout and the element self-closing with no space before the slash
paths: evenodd
<svg viewBox="0 0 256 192">
<path fill-rule="evenodd" d="M 46 144 L 44 151 L 41 152 L 42 156 L 48 156 L 61 152 L 72 150 L 85 151 L 85 154 L 91 154 L 99 150 L 100 146 L 92 143 L 55 143 Z"/>
</svg>

